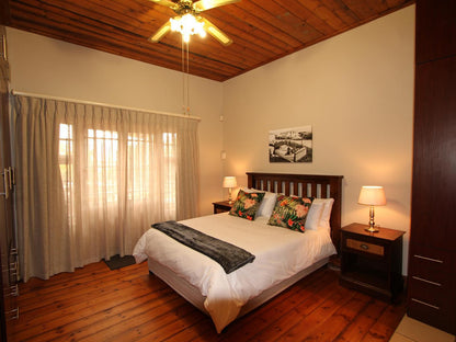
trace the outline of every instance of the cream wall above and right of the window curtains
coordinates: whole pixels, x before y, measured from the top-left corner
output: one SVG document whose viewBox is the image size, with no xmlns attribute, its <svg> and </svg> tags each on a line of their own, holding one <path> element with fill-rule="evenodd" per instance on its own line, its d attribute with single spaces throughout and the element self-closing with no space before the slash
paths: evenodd
<svg viewBox="0 0 456 342">
<path fill-rule="evenodd" d="M 22 92 L 182 113 L 182 73 L 7 27 L 11 87 Z M 221 196 L 223 86 L 191 77 L 191 114 L 202 118 L 201 214 Z"/>
</svg>

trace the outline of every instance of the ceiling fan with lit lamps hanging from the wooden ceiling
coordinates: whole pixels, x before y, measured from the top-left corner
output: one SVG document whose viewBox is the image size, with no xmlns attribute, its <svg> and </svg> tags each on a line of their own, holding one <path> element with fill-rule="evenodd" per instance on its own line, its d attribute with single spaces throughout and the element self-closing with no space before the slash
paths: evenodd
<svg viewBox="0 0 456 342">
<path fill-rule="evenodd" d="M 150 0 L 157 4 L 166 5 L 173 10 L 178 16 L 170 19 L 162 25 L 149 41 L 158 43 L 169 31 L 178 31 L 182 34 L 184 42 L 189 43 L 190 36 L 200 34 L 205 36 L 206 32 L 223 45 L 230 45 L 231 38 L 221 32 L 216 25 L 207 19 L 200 15 L 201 12 L 238 2 L 240 0 L 200 0 L 193 2 L 192 0 L 179 0 L 172 2 L 170 0 Z"/>
</svg>

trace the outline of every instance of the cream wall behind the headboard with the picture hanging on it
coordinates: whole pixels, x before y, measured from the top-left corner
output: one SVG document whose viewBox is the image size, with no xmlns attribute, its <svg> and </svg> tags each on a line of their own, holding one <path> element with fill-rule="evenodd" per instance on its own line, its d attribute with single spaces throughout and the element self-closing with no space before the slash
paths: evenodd
<svg viewBox="0 0 456 342">
<path fill-rule="evenodd" d="M 341 174 L 342 224 L 367 223 L 362 185 L 384 185 L 376 223 L 409 231 L 414 5 L 224 83 L 225 174 Z M 311 163 L 270 163 L 271 129 L 311 125 Z M 403 272 L 407 272 L 408 233 Z"/>
</svg>

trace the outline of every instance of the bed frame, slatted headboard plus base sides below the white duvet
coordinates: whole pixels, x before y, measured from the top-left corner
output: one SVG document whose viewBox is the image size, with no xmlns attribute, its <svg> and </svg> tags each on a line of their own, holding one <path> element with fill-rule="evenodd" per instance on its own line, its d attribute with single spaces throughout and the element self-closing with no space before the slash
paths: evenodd
<svg viewBox="0 0 456 342">
<path fill-rule="evenodd" d="M 278 174 L 278 173 L 258 173 L 247 172 L 249 187 L 265 190 L 286 195 L 314 196 L 321 198 L 334 198 L 331 212 L 331 238 L 339 250 L 340 228 L 341 228 L 341 205 L 342 205 L 342 175 L 316 175 L 316 174 Z M 264 290 L 259 296 L 250 299 L 241 309 L 237 318 L 258 308 L 272 297 L 276 296 L 284 289 L 288 288 L 296 282 L 300 281 L 314 271 L 324 266 L 328 258 L 317 261 L 309 267 L 300 271 L 290 278 Z M 204 314 L 208 315 L 204 307 L 205 297 L 200 290 L 186 282 L 184 278 L 175 275 L 170 269 L 162 264 L 148 260 L 149 271 L 156 274 L 171 288 L 173 288 L 183 298 L 190 301 Z"/>
</svg>

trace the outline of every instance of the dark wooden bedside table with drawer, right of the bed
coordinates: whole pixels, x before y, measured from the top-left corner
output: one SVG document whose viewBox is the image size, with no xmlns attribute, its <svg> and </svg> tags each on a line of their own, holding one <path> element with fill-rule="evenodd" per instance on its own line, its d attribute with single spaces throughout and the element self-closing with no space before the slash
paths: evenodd
<svg viewBox="0 0 456 342">
<path fill-rule="evenodd" d="M 404 231 L 351 224 L 341 228 L 340 284 L 395 301 L 402 292 L 402 236 Z"/>
</svg>

